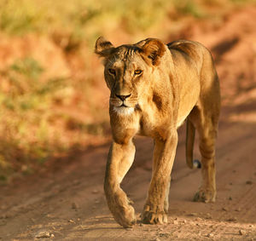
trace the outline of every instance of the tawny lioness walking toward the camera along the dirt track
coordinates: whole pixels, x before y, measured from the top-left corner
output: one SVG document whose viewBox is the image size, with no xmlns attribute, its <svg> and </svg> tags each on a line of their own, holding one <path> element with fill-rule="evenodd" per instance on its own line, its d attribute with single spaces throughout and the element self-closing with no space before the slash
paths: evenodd
<svg viewBox="0 0 256 241">
<path fill-rule="evenodd" d="M 154 164 L 142 221 L 167 222 L 177 128 L 185 119 L 189 168 L 194 166 L 195 129 L 200 140 L 202 184 L 195 200 L 214 202 L 220 91 L 210 52 L 201 43 L 180 40 L 165 45 L 154 38 L 115 48 L 103 37 L 97 39 L 95 52 L 104 58 L 104 76 L 111 91 L 113 143 L 104 190 L 114 219 L 123 227 L 136 223 L 131 200 L 120 183 L 134 159 L 133 137 L 147 135 L 154 138 Z"/>
</svg>

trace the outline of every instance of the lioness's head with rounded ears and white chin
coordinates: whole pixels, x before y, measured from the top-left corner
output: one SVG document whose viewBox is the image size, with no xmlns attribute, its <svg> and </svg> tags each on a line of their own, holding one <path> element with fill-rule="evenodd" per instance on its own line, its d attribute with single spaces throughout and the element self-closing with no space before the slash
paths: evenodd
<svg viewBox="0 0 256 241">
<path fill-rule="evenodd" d="M 104 37 L 97 39 L 95 52 L 104 58 L 104 76 L 111 91 L 110 110 L 131 114 L 139 108 L 140 98 L 150 89 L 154 67 L 165 51 L 164 43 L 154 38 L 117 48 Z"/>
</svg>

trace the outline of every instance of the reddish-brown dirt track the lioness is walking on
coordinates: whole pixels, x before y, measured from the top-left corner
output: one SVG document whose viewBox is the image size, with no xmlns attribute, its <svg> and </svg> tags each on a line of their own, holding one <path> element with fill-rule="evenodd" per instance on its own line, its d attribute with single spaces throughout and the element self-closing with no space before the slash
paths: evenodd
<svg viewBox="0 0 256 241">
<path fill-rule="evenodd" d="M 113 221 L 102 190 L 108 143 L 73 162 L 55 164 L 47 173 L 0 186 L 0 240 L 43 240 L 36 238 L 39 232 L 49 232 L 53 240 L 256 240 L 255 15 L 256 9 L 245 9 L 217 29 L 193 29 L 190 37 L 212 49 L 222 88 L 215 204 L 191 201 L 201 173 L 185 165 L 181 128 L 168 224 L 138 221 L 133 229 L 124 229 Z M 151 178 L 153 143 L 137 138 L 136 144 L 136 160 L 122 186 L 139 220 Z"/>
</svg>

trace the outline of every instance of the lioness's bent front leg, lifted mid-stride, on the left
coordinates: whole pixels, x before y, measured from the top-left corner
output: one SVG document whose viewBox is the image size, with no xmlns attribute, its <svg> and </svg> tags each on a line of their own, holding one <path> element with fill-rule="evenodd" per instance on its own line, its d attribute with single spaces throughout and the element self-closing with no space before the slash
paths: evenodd
<svg viewBox="0 0 256 241">
<path fill-rule="evenodd" d="M 113 142 L 108 153 L 104 191 L 115 221 L 123 227 L 132 227 L 136 222 L 131 201 L 120 188 L 120 183 L 130 169 L 134 155 L 135 146 L 131 140 L 122 145 Z"/>
</svg>

